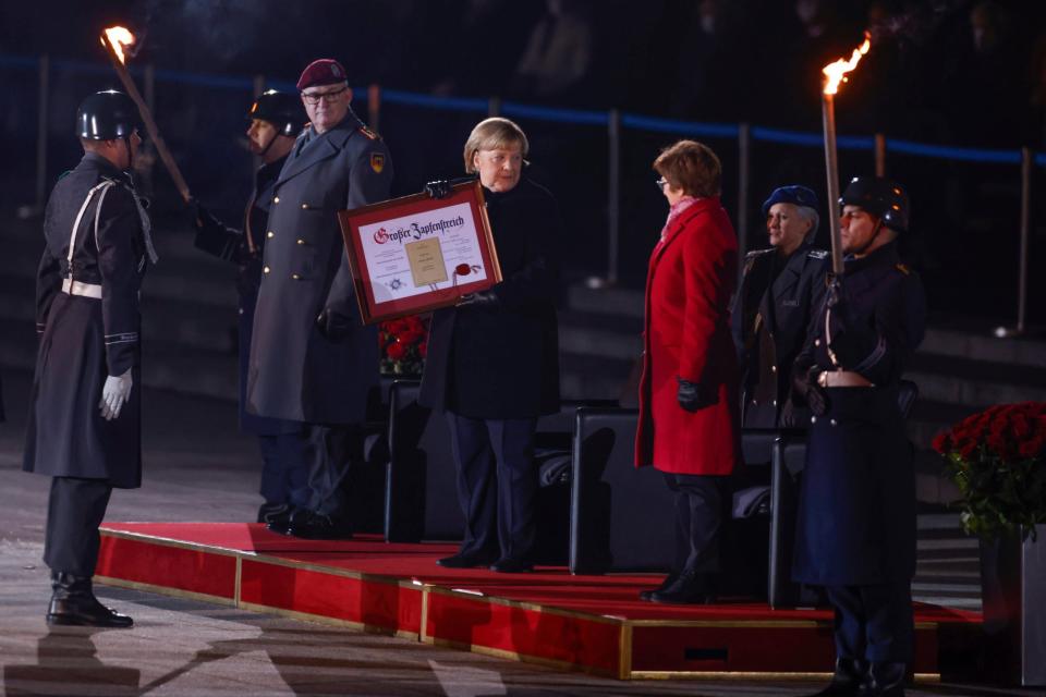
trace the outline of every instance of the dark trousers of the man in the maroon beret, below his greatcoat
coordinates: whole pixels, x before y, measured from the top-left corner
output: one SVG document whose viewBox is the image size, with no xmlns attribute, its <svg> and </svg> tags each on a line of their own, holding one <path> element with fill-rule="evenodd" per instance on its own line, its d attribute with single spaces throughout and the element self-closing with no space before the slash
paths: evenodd
<svg viewBox="0 0 1046 697">
<path fill-rule="evenodd" d="M 308 424 L 308 508 L 330 516 L 349 515 L 349 494 L 342 490 L 352 463 L 363 460 L 363 430 L 355 424 Z"/>
</svg>

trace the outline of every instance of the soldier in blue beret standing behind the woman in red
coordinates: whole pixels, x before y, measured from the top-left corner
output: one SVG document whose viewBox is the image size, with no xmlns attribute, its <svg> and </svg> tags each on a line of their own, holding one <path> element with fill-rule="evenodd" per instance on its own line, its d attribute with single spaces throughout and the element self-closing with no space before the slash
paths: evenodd
<svg viewBox="0 0 1046 697">
<path fill-rule="evenodd" d="M 817 196 L 781 186 L 763 204 L 770 247 L 750 252 L 733 307 L 745 428 L 805 427 L 810 414 L 790 399 L 792 362 L 825 296 L 828 253 L 815 249 Z"/>
</svg>

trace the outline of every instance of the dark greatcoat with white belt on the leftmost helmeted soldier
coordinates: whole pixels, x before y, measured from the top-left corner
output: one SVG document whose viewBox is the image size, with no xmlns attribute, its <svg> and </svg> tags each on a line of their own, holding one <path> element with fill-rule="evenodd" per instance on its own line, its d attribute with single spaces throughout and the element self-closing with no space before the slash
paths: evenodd
<svg viewBox="0 0 1046 697">
<path fill-rule="evenodd" d="M 101 286 L 101 299 L 62 291 L 70 278 L 73 223 L 88 192 L 111 180 L 84 211 L 72 280 Z M 53 477 L 106 479 L 113 487 L 142 482 L 138 290 L 146 269 L 144 213 L 126 175 L 87 154 L 62 178 L 47 203 L 45 248 L 37 273 L 40 337 L 23 469 Z M 95 220 L 98 220 L 97 235 Z M 110 421 L 98 403 L 106 377 L 132 369 L 131 396 Z"/>
</svg>

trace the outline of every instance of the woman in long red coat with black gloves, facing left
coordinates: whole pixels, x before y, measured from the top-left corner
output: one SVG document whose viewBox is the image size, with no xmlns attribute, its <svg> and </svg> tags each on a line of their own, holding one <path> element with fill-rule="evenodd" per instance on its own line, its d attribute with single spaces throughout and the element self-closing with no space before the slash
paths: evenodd
<svg viewBox="0 0 1046 697">
<path fill-rule="evenodd" d="M 719 572 L 727 477 L 739 460 L 738 363 L 730 296 L 738 242 L 719 204 L 719 158 L 680 140 L 654 161 L 668 221 L 650 255 L 637 467 L 654 465 L 676 492 L 676 568 L 655 602 L 708 602 Z"/>
</svg>

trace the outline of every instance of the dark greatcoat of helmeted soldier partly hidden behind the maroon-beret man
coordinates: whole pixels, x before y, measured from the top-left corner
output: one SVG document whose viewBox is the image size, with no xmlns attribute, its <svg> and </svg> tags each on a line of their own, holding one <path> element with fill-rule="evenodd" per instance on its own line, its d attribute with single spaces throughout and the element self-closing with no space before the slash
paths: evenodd
<svg viewBox="0 0 1046 697">
<path fill-rule="evenodd" d="M 269 209 L 272 206 L 272 188 L 287 161 L 282 157 L 266 162 L 254 175 L 254 193 L 247 203 L 243 230 L 226 225 L 206 227 L 196 234 L 196 247 L 214 256 L 232 261 L 239 267 L 236 291 L 240 295 L 240 430 L 256 436 L 276 436 L 296 432 L 295 423 L 266 418 L 246 411 L 247 364 L 251 359 L 251 334 L 254 330 L 254 308 L 258 302 L 262 284 L 262 254 L 266 232 L 269 230 Z"/>
</svg>

